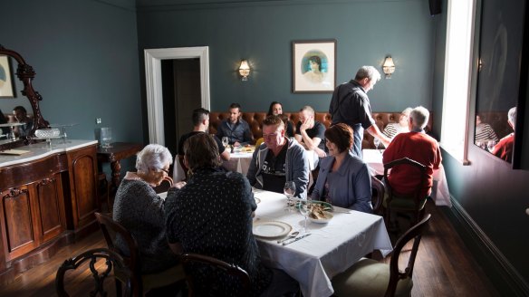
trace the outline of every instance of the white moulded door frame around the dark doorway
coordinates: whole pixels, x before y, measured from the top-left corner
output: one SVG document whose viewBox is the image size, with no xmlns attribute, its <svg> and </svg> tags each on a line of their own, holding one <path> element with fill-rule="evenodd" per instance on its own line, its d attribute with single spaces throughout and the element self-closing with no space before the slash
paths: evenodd
<svg viewBox="0 0 529 297">
<path fill-rule="evenodd" d="M 203 108 L 209 110 L 209 48 L 207 46 L 145 50 L 149 143 L 165 145 L 161 60 L 193 58 L 200 60 L 201 103 Z"/>
</svg>

